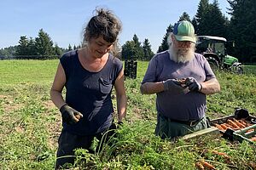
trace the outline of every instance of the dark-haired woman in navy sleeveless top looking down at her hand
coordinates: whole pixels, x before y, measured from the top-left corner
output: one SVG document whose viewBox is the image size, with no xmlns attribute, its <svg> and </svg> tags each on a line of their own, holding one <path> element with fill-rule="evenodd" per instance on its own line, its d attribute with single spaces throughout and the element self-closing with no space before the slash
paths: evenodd
<svg viewBox="0 0 256 170">
<path fill-rule="evenodd" d="M 74 155 L 74 149 L 89 150 L 92 140 L 102 139 L 102 133 L 112 125 L 113 87 L 118 122 L 125 118 L 124 69 L 122 62 L 111 53 L 121 23 L 109 10 L 101 8 L 96 12 L 84 28 L 83 48 L 61 57 L 50 90 L 52 101 L 61 111 L 63 127 L 56 168 L 73 163 L 74 157 L 70 156 Z M 61 93 L 64 86 L 67 90 L 65 100 Z"/>
</svg>

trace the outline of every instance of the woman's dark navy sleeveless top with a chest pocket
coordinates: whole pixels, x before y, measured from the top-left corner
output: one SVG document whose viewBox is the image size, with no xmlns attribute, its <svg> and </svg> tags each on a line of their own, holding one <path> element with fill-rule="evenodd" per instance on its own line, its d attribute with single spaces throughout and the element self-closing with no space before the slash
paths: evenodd
<svg viewBox="0 0 256 170">
<path fill-rule="evenodd" d="M 78 50 L 67 52 L 60 61 L 67 80 L 66 103 L 83 114 L 76 124 L 64 122 L 63 129 L 79 135 L 101 133 L 113 120 L 111 92 L 123 68 L 122 62 L 109 54 L 101 71 L 90 72 L 81 65 Z"/>
</svg>

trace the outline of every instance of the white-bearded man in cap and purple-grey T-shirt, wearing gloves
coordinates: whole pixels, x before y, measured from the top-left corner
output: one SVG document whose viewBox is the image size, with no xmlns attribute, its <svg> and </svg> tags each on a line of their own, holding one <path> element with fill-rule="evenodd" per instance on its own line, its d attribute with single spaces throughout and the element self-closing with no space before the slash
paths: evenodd
<svg viewBox="0 0 256 170">
<path fill-rule="evenodd" d="M 207 128 L 207 94 L 220 91 L 210 65 L 195 54 L 195 29 L 187 20 L 175 24 L 170 48 L 148 64 L 142 94 L 156 94 L 156 135 L 173 139 Z"/>
</svg>

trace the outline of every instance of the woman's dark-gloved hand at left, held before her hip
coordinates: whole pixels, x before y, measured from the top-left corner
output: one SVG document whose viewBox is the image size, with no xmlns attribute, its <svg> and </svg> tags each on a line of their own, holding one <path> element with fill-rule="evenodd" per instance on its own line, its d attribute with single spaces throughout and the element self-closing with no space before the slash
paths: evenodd
<svg viewBox="0 0 256 170">
<path fill-rule="evenodd" d="M 74 110 L 68 105 L 62 105 L 60 111 L 62 122 L 66 122 L 67 124 L 74 124 L 79 122 L 79 120 L 83 117 L 79 111 Z"/>
</svg>

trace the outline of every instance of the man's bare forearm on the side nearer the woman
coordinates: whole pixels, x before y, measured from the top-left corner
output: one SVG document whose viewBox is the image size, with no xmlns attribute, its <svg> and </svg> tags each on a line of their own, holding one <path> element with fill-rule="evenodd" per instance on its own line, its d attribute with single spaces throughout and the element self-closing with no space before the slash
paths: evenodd
<svg viewBox="0 0 256 170">
<path fill-rule="evenodd" d="M 144 82 L 141 85 L 142 94 L 157 94 L 164 91 L 163 82 Z"/>
</svg>

